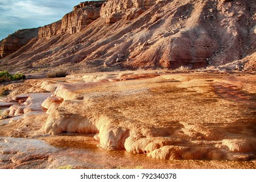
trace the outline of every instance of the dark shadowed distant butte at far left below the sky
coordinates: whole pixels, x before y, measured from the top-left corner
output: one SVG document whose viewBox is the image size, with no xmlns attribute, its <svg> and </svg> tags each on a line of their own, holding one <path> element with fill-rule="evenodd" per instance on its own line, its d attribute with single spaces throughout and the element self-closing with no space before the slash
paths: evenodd
<svg viewBox="0 0 256 182">
<path fill-rule="evenodd" d="M 0 42 L 0 58 L 14 53 L 35 38 L 39 29 L 23 29 L 10 34 Z"/>
</svg>

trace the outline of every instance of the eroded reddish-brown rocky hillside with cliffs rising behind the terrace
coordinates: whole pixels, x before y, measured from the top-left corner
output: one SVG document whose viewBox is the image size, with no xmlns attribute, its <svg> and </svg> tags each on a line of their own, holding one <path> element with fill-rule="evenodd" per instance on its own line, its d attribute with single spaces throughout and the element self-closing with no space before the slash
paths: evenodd
<svg viewBox="0 0 256 182">
<path fill-rule="evenodd" d="M 81 3 L 61 21 L 42 27 L 33 44 L 1 59 L 2 69 L 10 64 L 39 72 L 56 66 L 72 70 L 201 68 L 255 57 L 253 0 L 95 4 Z"/>
</svg>

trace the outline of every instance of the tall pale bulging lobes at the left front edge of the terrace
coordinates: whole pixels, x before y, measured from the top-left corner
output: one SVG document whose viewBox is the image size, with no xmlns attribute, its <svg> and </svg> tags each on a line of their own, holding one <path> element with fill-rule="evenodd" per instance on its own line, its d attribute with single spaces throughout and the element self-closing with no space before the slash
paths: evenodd
<svg viewBox="0 0 256 182">
<path fill-rule="evenodd" d="M 82 104 L 84 103 L 84 104 Z M 70 133 L 94 133 L 99 138 L 101 148 L 124 148 L 125 139 L 129 136 L 129 130 L 114 126 L 111 118 L 96 115 L 87 116 L 83 110 L 89 107 L 88 101 L 63 101 L 59 107 L 51 109 L 46 124 L 45 133 L 54 135 L 65 132 Z M 83 108 L 81 108 L 81 104 Z M 80 110 L 79 110 L 80 109 Z M 96 112 L 97 113 L 97 112 Z"/>
</svg>

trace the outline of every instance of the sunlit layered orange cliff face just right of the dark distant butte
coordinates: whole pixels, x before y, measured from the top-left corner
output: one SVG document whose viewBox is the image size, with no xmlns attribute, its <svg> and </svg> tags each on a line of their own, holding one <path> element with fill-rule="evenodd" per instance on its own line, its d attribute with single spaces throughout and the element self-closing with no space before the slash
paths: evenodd
<svg viewBox="0 0 256 182">
<path fill-rule="evenodd" d="M 39 38 L 50 38 L 56 34 L 80 32 L 92 21 L 100 17 L 101 5 L 104 1 L 86 1 L 74 6 L 73 11 L 55 23 L 39 29 Z"/>
</svg>

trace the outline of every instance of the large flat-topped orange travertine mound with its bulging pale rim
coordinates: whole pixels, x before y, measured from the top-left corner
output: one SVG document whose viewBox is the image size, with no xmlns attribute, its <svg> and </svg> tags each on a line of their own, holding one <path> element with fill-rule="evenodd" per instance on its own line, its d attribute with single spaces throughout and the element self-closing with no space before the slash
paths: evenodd
<svg viewBox="0 0 256 182">
<path fill-rule="evenodd" d="M 253 118 L 246 119 L 247 126 L 242 126 L 239 119 L 248 117 L 244 101 L 252 100 L 242 97 L 234 86 L 222 86 L 231 77 L 223 80 L 223 76 L 218 75 L 208 81 L 206 75 L 192 73 L 182 76 L 149 73 L 148 77 L 145 73 L 109 75 L 116 81 L 95 83 L 93 81 L 101 81 L 97 79 L 101 73 L 98 76 L 93 73 L 83 76 L 91 82 L 59 86 L 56 96 L 63 97 L 64 101 L 55 105 L 50 103 L 56 98 L 47 99 L 49 116 L 44 132 L 92 133 L 101 148 L 146 153 L 156 159 L 255 158 L 253 130 L 246 129 Z M 72 79 L 75 78 L 72 75 Z M 74 97 L 76 94 L 83 99 Z M 236 119 L 230 107 L 234 102 L 240 105 L 236 106 Z M 204 114 L 198 114 L 199 110 Z M 233 120 L 227 119 L 230 117 Z M 239 129 L 234 128 L 234 122 L 235 127 L 240 125 Z"/>
</svg>

